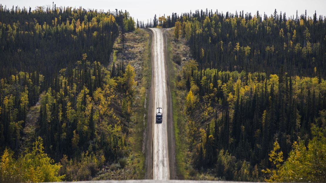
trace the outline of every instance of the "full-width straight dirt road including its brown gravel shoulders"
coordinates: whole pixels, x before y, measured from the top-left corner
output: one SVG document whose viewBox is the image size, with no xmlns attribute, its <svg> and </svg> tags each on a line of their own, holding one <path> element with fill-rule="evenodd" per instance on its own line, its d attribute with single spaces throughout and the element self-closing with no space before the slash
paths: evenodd
<svg viewBox="0 0 326 183">
<path fill-rule="evenodd" d="M 168 74 L 165 58 L 166 39 L 161 29 L 151 28 L 152 32 L 152 82 L 148 111 L 147 142 L 147 176 L 155 180 L 174 179 L 174 157 L 169 160 L 169 148 L 174 148 L 171 95 L 168 85 Z M 163 122 L 156 123 L 156 108 L 162 107 Z M 169 125 L 169 126 L 168 126 Z M 169 141 L 170 140 L 170 141 Z M 171 145 L 173 144 L 173 145 Z M 173 167 L 170 177 L 170 163 Z"/>
</svg>

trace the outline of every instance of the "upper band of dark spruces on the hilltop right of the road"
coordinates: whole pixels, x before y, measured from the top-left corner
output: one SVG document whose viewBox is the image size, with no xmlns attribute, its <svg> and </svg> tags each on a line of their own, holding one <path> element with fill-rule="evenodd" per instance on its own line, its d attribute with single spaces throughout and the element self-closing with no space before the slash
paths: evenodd
<svg viewBox="0 0 326 183">
<path fill-rule="evenodd" d="M 174 27 L 186 38 L 201 69 L 275 74 L 281 65 L 290 75 L 325 78 L 325 17 L 221 13 L 217 10 L 154 17 L 145 27 Z"/>
</svg>

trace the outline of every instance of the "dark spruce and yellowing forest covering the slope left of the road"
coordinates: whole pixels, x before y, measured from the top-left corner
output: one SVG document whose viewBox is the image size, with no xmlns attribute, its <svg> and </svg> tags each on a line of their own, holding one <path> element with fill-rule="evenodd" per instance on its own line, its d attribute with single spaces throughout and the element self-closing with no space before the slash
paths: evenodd
<svg viewBox="0 0 326 183">
<path fill-rule="evenodd" d="M 88 180 L 125 161 L 135 71 L 107 66 L 134 29 L 127 11 L 0 6 L 0 182 Z"/>
</svg>

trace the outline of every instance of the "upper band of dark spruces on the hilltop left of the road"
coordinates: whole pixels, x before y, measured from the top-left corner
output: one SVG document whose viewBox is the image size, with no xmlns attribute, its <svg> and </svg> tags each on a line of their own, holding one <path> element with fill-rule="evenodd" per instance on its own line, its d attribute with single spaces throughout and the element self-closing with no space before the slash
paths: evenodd
<svg viewBox="0 0 326 183">
<path fill-rule="evenodd" d="M 119 31 L 135 29 L 127 11 L 56 5 L 35 10 L 0 5 L 0 20 L 0 78 L 38 71 L 45 76 L 43 89 L 50 86 L 50 76 L 80 60 L 83 53 L 90 62 L 108 64 Z"/>
</svg>

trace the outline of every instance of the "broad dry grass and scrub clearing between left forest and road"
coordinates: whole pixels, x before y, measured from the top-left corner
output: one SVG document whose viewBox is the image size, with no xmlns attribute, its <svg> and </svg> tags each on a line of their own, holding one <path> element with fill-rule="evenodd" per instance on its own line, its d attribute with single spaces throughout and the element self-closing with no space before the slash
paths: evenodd
<svg viewBox="0 0 326 183">
<path fill-rule="evenodd" d="M 143 29 L 136 29 L 125 35 L 125 49 L 121 40 L 115 41 L 108 66 L 111 70 L 114 61 L 118 64 L 130 64 L 135 69 L 137 85 L 131 107 L 131 116 L 128 121 L 128 134 L 126 137 L 128 156 L 118 162 L 107 165 L 93 180 L 129 180 L 144 179 L 145 177 L 145 152 L 143 147 L 144 131 L 147 125 L 146 93 L 150 87 L 151 68 L 151 35 Z M 145 118 L 145 119 L 144 119 Z"/>
</svg>

